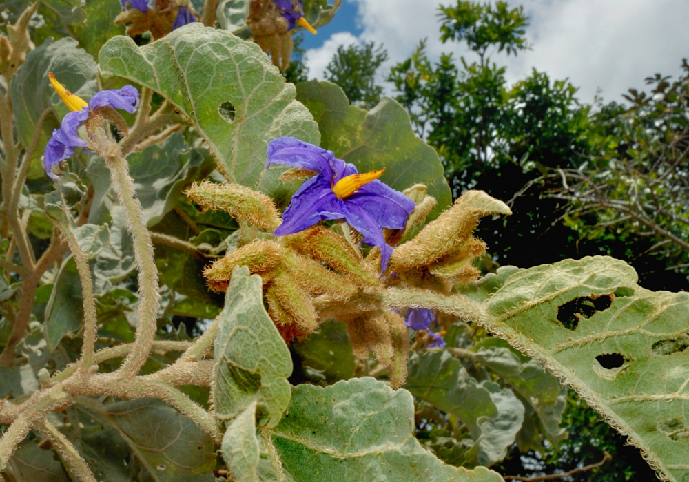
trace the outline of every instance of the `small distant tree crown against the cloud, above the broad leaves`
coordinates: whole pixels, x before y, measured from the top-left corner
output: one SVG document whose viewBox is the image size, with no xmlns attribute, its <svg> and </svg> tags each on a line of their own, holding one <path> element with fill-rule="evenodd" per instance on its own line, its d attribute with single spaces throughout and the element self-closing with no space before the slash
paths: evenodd
<svg viewBox="0 0 689 482">
<path fill-rule="evenodd" d="M 323 74 L 326 80 L 342 87 L 349 102 L 370 109 L 382 95 L 383 88 L 376 84 L 376 72 L 387 58 L 387 50 L 373 42 L 361 47 L 340 45 Z"/>
</svg>

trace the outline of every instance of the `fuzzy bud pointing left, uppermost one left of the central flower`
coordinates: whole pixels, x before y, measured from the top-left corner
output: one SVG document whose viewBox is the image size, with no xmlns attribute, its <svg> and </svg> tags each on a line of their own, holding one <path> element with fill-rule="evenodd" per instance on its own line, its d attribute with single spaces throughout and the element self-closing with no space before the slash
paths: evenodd
<svg viewBox="0 0 689 482">
<path fill-rule="evenodd" d="M 227 211 L 233 218 L 265 231 L 274 231 L 280 226 L 280 215 L 273 200 L 248 187 L 209 181 L 200 184 L 194 182 L 185 194 L 201 207 Z"/>
</svg>

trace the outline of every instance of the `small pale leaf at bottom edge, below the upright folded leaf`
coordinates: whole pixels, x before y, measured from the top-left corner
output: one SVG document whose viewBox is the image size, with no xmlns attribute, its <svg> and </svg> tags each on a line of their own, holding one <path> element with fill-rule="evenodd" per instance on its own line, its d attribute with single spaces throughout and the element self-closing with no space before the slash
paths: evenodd
<svg viewBox="0 0 689 482">
<path fill-rule="evenodd" d="M 256 468 L 260 452 L 256 437 L 256 401 L 227 424 L 220 450 L 234 480 L 258 482 Z"/>
</svg>

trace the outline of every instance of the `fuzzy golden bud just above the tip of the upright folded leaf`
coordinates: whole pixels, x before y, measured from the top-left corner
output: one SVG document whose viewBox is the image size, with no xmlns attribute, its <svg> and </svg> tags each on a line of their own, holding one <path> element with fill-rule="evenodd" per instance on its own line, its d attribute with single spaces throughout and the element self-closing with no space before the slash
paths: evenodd
<svg viewBox="0 0 689 482">
<path fill-rule="evenodd" d="M 275 241 L 256 240 L 225 255 L 203 269 L 208 287 L 218 293 L 227 291 L 234 266 L 249 266 L 251 274 L 263 278 L 263 284 L 272 279 L 273 271 L 282 262 L 282 247 Z"/>
</svg>

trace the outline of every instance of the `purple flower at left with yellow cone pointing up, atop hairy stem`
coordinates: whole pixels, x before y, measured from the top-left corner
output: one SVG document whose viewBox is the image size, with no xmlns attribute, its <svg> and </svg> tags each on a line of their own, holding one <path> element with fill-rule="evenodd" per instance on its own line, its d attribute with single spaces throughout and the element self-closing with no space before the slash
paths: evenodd
<svg viewBox="0 0 689 482">
<path fill-rule="evenodd" d="M 50 78 L 50 83 L 62 101 L 72 111 L 63 118 L 60 128 L 52 132 L 52 137 L 48 141 L 43 155 L 45 172 L 50 178 L 58 179 L 58 176 L 52 173 L 52 167 L 61 163 L 62 160 L 72 157 L 74 147 L 88 147 L 86 140 L 80 137 L 77 132 L 82 123 L 88 119 L 90 111 L 98 107 L 108 106 L 123 109 L 133 114 L 138 107 L 138 90 L 132 85 L 125 85 L 117 90 L 101 90 L 101 92 L 96 92 L 86 103 L 56 81 L 52 72 L 48 74 L 48 78 Z"/>
</svg>

